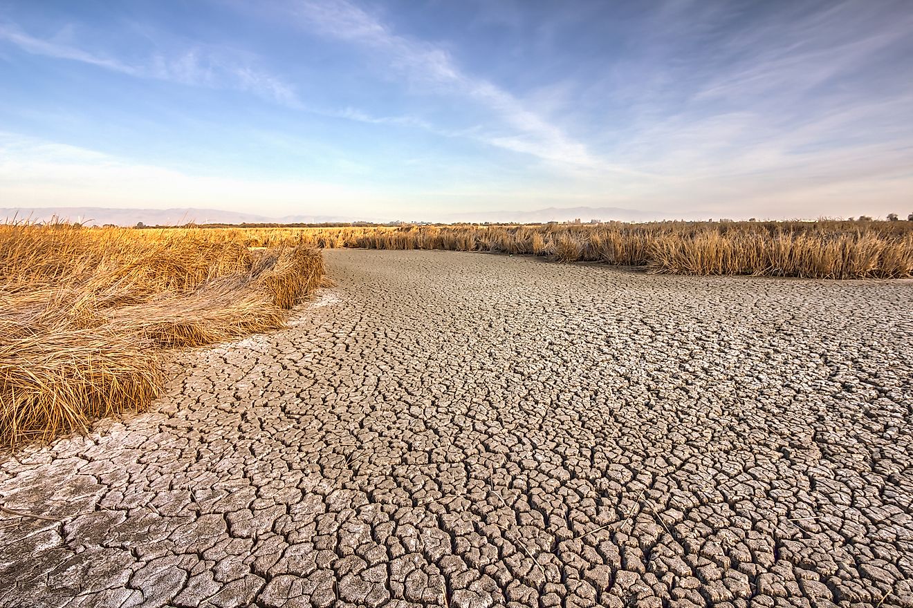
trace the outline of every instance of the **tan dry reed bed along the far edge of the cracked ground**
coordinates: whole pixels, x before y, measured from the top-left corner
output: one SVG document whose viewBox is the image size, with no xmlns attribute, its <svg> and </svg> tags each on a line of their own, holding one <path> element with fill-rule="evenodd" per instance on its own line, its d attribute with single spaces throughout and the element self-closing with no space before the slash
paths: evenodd
<svg viewBox="0 0 913 608">
<path fill-rule="evenodd" d="M 913 275 L 913 222 L 652 222 L 253 228 L 252 245 L 444 249 L 637 266 L 651 273 L 819 279 Z"/>
</svg>

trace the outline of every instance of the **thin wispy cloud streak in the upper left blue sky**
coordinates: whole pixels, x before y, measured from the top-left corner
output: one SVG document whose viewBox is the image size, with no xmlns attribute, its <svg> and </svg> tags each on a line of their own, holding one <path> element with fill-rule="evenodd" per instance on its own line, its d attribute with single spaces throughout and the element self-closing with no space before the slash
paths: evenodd
<svg viewBox="0 0 913 608">
<path fill-rule="evenodd" d="M 74 44 L 30 36 L 8 23 L 0 22 L 0 40 L 32 55 L 78 61 L 132 77 L 167 80 L 195 87 L 234 88 L 290 108 L 302 106 L 295 89 L 282 79 L 238 57 L 226 57 L 225 53 L 202 45 L 180 49 L 171 55 L 153 53 L 142 62 L 131 63 L 92 53 Z"/>
</svg>

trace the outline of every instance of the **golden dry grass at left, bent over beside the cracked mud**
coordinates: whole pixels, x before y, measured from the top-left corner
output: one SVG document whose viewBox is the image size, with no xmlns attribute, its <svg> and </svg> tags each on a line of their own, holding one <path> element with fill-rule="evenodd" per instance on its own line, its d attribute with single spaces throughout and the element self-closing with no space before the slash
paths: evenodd
<svg viewBox="0 0 913 608">
<path fill-rule="evenodd" d="M 158 351 L 282 326 L 320 252 L 242 232 L 0 226 L 0 445 L 146 406 Z"/>
</svg>

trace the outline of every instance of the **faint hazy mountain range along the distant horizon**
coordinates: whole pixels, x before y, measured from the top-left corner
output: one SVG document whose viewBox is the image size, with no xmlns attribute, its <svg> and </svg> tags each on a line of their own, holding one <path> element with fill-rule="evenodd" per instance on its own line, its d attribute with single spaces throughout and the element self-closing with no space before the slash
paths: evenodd
<svg viewBox="0 0 913 608">
<path fill-rule="evenodd" d="M 104 207 L 43 207 L 43 208 L 2 208 L 0 207 L 0 222 L 17 220 L 30 220 L 32 222 L 47 222 L 54 217 L 68 222 L 80 222 L 87 225 L 115 224 L 118 226 L 135 226 L 142 222 L 148 226 L 172 226 L 189 222 L 203 223 L 322 223 L 322 222 L 390 222 L 393 220 L 408 220 L 421 222 L 428 218 L 399 218 L 399 217 L 342 217 L 338 215 L 286 215 L 282 217 L 269 217 L 256 213 L 240 213 L 237 211 L 220 211 L 217 209 L 108 209 Z M 619 222 L 650 222 L 652 220 L 697 220 L 706 218 L 704 212 L 687 212 L 669 214 L 661 211 L 639 211 L 619 207 L 569 207 L 540 209 L 537 211 L 480 211 L 451 213 L 442 219 L 446 222 L 569 222 L 580 219 L 582 222 L 591 220 L 611 220 Z"/>
</svg>

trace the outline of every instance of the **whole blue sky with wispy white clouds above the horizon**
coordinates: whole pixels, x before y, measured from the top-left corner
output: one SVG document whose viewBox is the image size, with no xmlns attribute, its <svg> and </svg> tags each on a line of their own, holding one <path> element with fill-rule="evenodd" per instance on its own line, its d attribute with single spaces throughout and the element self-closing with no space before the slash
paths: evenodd
<svg viewBox="0 0 913 608">
<path fill-rule="evenodd" d="M 0 207 L 906 217 L 911 32 L 909 0 L 0 0 Z"/>
</svg>

